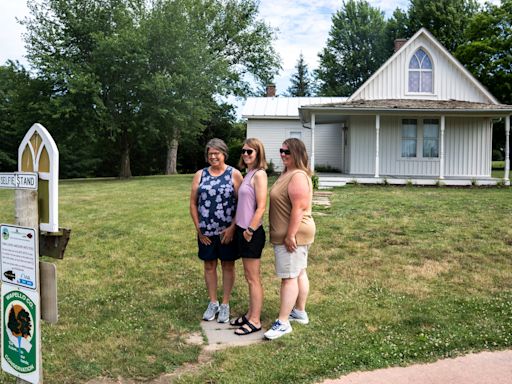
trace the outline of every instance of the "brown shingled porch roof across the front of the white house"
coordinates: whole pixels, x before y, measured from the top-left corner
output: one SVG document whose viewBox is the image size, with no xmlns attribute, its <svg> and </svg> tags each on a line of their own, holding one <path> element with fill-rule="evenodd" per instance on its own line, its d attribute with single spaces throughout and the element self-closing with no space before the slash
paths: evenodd
<svg viewBox="0 0 512 384">
<path fill-rule="evenodd" d="M 311 114 L 318 116 L 318 123 L 339 121 L 339 115 L 355 114 L 444 114 L 444 115 L 481 115 L 503 117 L 512 113 L 512 105 L 474 103 L 459 100 L 411 100 L 381 99 L 352 100 L 342 103 L 308 105 L 299 108 L 303 124 L 311 121 Z M 336 114 L 338 117 L 336 118 Z"/>
</svg>

